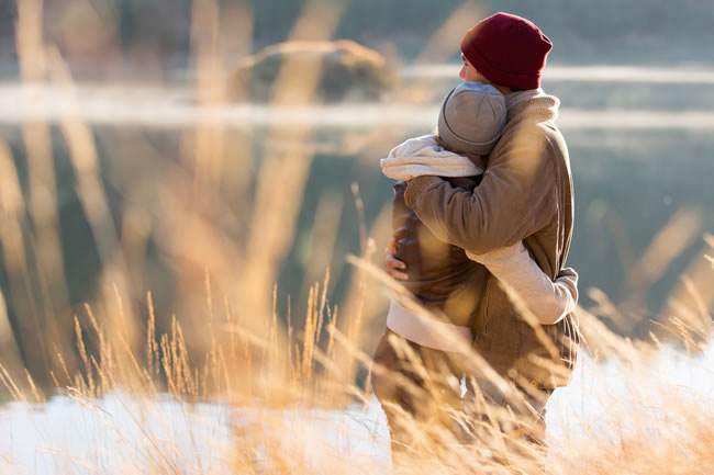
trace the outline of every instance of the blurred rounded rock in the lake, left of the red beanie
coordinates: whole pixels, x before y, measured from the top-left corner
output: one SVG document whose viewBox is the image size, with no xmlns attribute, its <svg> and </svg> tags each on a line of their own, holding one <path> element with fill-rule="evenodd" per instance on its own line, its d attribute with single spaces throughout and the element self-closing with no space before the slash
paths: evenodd
<svg viewBox="0 0 714 475">
<path fill-rule="evenodd" d="M 278 93 L 287 102 L 344 102 L 379 100 L 398 76 L 380 53 L 353 41 L 287 42 L 242 61 L 228 81 L 233 101 L 268 102 Z"/>
</svg>

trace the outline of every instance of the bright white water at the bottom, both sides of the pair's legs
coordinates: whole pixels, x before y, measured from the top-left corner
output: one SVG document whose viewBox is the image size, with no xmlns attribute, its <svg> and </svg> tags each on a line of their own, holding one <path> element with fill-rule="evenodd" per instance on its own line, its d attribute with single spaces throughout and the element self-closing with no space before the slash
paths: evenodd
<svg viewBox="0 0 714 475">
<path fill-rule="evenodd" d="M 634 366 L 583 354 L 571 384 L 548 403 L 550 446 L 592 448 L 593 434 L 617 443 L 643 431 L 654 446 L 680 425 L 687 428 L 685 420 L 672 419 L 670 404 L 714 416 L 712 364 L 714 346 L 699 357 L 663 348 Z M 44 406 L 0 407 L 0 471 L 18 475 L 146 473 L 150 467 L 228 474 L 236 453 L 254 453 L 255 465 L 264 466 L 265 448 L 272 443 L 291 461 L 304 460 L 313 473 L 326 473 L 335 460 L 349 461 L 359 473 L 389 473 L 386 419 L 373 399 L 347 410 L 258 410 L 113 393 L 100 400 L 56 397 Z"/>
</svg>

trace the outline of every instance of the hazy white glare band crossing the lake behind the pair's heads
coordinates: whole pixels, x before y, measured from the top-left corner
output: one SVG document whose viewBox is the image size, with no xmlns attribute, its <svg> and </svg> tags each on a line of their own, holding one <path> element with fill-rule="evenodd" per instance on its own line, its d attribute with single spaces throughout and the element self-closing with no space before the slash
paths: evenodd
<svg viewBox="0 0 714 475">
<path fill-rule="evenodd" d="M 420 71 L 420 70 L 417 70 Z M 429 70 L 422 71 L 425 78 L 431 78 Z M 693 73 L 693 72 L 692 72 Z M 700 73 L 701 81 L 709 81 L 709 76 L 714 72 Z M 617 77 L 617 76 L 615 76 Z M 689 79 L 689 76 L 684 76 Z M 434 75 L 435 83 L 443 82 L 440 90 L 446 91 L 453 79 Z M 714 129 L 714 112 L 705 108 L 710 101 L 709 94 L 692 93 L 690 81 L 674 82 L 676 86 L 685 87 L 685 91 L 678 91 L 680 95 L 688 95 L 695 101 L 699 109 L 679 110 L 678 104 L 659 105 L 652 108 L 652 102 L 661 101 L 656 95 L 662 84 L 661 92 L 665 98 L 671 98 L 674 92 L 672 84 L 665 79 L 680 80 L 681 75 L 671 73 L 660 81 L 647 78 L 647 88 L 650 88 L 649 103 L 643 103 L 637 97 L 631 95 L 627 100 L 618 99 L 616 106 L 607 103 L 609 95 L 620 95 L 620 91 L 607 90 L 613 84 L 620 87 L 627 84 L 634 78 L 626 77 L 624 81 L 606 82 L 602 77 L 594 76 L 592 80 L 584 80 L 574 76 L 555 88 L 555 93 L 562 97 L 572 94 L 572 100 L 564 99 L 564 108 L 558 125 L 565 131 L 606 129 L 606 131 L 692 131 L 706 132 Z M 571 91 L 572 83 L 576 91 Z M 604 83 L 598 86 L 602 95 L 599 100 L 603 104 L 593 103 L 592 90 L 588 90 L 589 82 Z M 638 84 L 643 87 L 643 84 Z M 714 90 L 714 81 L 699 84 L 702 90 Z M 559 93 L 561 89 L 564 93 Z M 579 94 L 588 92 L 587 94 Z M 631 91 L 632 92 L 632 91 Z M 647 95 L 647 94 L 645 94 Z M 612 100 L 612 98 L 610 98 Z M 600 106 L 599 106 L 600 105 Z M 181 87 L 171 88 L 136 88 L 136 87 L 102 87 L 81 86 L 76 89 L 63 87 L 47 87 L 43 84 L 0 84 L 0 124 L 15 125 L 31 121 L 58 121 L 72 116 L 96 125 L 112 127 L 143 126 L 152 128 L 179 128 L 200 124 L 220 123 L 227 127 L 246 128 L 260 126 L 297 126 L 311 125 L 315 128 L 328 129 L 373 129 L 376 127 L 406 127 L 431 128 L 438 114 L 438 103 L 413 104 L 408 102 L 384 102 L 343 104 L 326 106 L 282 108 L 276 110 L 270 105 L 236 104 L 225 106 L 200 106 L 196 103 L 190 89 Z M 652 110 L 654 109 L 654 110 Z"/>
</svg>

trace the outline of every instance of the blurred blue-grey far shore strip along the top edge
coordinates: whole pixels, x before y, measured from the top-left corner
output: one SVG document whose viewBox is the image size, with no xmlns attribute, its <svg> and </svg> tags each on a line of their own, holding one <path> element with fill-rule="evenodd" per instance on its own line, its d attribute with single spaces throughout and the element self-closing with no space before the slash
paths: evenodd
<svg viewBox="0 0 714 475">
<path fill-rule="evenodd" d="M 201 4 L 189 0 L 45 2 L 46 38 L 89 75 L 114 71 L 120 77 L 149 76 L 164 69 L 169 76 L 191 65 L 191 25 Z M 221 22 L 226 59 L 238 59 L 253 48 L 290 38 L 305 0 L 260 2 L 223 1 Z M 532 19 L 556 43 L 556 64 L 624 64 L 681 66 L 711 61 L 714 47 L 711 4 L 703 0 L 666 2 L 644 0 L 623 5 L 615 0 L 594 4 L 585 0 L 520 1 L 426 0 L 324 1 L 321 8 L 339 10 L 334 37 L 352 38 L 381 53 L 410 61 L 424 52 L 426 41 L 457 14 L 464 24 L 502 10 Z M 626 8 L 625 8 L 626 7 Z M 3 71 L 16 70 L 13 1 L 0 7 Z M 462 10 L 459 10 L 462 9 Z M 473 21 L 471 21 L 473 20 Z M 456 32 L 454 32 L 456 33 Z M 309 34 L 309 32 L 308 32 Z M 459 35 L 453 45 L 458 45 Z M 456 60 L 456 48 L 442 60 Z M 150 77 L 150 76 L 149 76 Z"/>
</svg>

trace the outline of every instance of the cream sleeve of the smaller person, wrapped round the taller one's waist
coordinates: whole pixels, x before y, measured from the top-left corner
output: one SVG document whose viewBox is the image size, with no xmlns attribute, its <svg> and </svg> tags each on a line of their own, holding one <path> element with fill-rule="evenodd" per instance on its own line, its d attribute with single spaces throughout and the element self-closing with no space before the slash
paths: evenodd
<svg viewBox="0 0 714 475">
<path fill-rule="evenodd" d="M 484 255 L 467 255 L 513 291 L 542 325 L 557 324 L 578 305 L 578 273 L 564 269 L 556 281 L 551 281 L 523 241 Z"/>
</svg>

